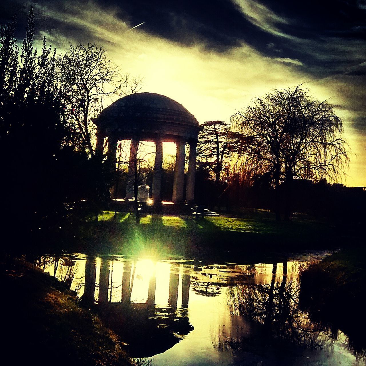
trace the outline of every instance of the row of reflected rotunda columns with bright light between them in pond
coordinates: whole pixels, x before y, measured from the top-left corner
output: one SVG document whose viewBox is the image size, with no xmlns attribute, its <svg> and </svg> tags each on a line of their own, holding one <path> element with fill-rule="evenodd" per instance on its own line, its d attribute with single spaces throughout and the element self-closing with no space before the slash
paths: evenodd
<svg viewBox="0 0 366 366">
<path fill-rule="evenodd" d="M 191 276 L 182 265 L 180 267 L 179 272 L 175 264 L 146 259 L 120 262 L 88 257 L 85 261 L 83 300 L 91 303 L 95 299 L 100 304 L 146 303 L 150 310 L 166 306 L 172 310 L 178 306 L 187 308 Z"/>
</svg>

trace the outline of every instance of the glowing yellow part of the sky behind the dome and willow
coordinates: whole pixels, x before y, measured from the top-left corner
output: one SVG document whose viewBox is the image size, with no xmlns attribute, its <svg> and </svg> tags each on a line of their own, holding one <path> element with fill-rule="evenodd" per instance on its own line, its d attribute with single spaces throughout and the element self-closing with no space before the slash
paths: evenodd
<svg viewBox="0 0 366 366">
<path fill-rule="evenodd" d="M 281 30 L 291 25 L 291 19 L 279 16 L 261 3 L 252 0 L 232 0 L 231 3 L 251 26 L 271 37 L 296 42 L 299 48 L 307 47 L 310 55 L 313 52 L 314 59 L 323 57 L 316 54 L 317 49 L 323 48 L 332 55 L 331 60 L 350 54 L 354 57 L 353 68 L 365 64 L 364 53 L 355 52 L 363 47 L 361 41 L 349 40 L 347 43 L 341 39 L 336 45 L 335 38 L 329 38 L 323 39 L 324 44 L 319 46 L 319 42 L 311 43 Z M 362 79 L 350 79 L 346 74 L 317 76 L 309 67 L 304 67 L 300 56 L 285 57 L 287 55 L 281 50 L 275 50 L 279 51 L 277 57 L 269 57 L 241 40 L 224 52 L 208 49 L 199 37 L 191 39 L 189 44 L 173 41 L 158 32 L 148 31 L 151 20 L 150 23 L 147 19 L 136 23 L 128 20 L 123 5 L 107 7 L 87 1 L 81 6 L 75 1 L 52 7 L 41 2 L 36 5 L 37 13 L 48 24 L 52 21 L 62 24 L 63 30 L 42 29 L 39 37 L 46 36 L 60 51 L 67 48 L 69 42 L 97 42 L 107 49 L 109 57 L 121 71 L 144 77 L 142 91 L 164 94 L 178 101 L 200 123 L 228 121 L 255 96 L 262 96 L 271 89 L 305 83 L 313 97 L 337 105 L 336 113 L 343 120 L 344 137 L 352 150 L 349 176 L 344 183 L 366 186 L 366 132 L 356 123 L 365 118 Z M 174 19 L 170 22 L 174 23 Z M 68 28 L 78 31 L 66 31 Z M 267 46 L 275 48 L 271 42 Z"/>
</svg>

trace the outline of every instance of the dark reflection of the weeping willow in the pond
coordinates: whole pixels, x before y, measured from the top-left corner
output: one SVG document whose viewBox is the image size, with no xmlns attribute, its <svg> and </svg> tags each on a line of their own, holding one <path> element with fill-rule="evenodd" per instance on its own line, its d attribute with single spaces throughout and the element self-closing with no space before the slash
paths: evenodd
<svg viewBox="0 0 366 366">
<path fill-rule="evenodd" d="M 304 266 L 304 264 L 299 264 Z M 228 306 L 233 315 L 241 315 L 250 325 L 250 337 L 216 336 L 217 349 L 290 354 L 298 347 L 323 349 L 332 347 L 326 329 L 312 323 L 298 306 L 300 283 L 298 276 L 288 276 L 287 262 L 283 274 L 276 278 L 273 265 L 270 283 L 240 284 L 227 290 Z M 303 270 L 297 268 L 296 272 Z"/>
</svg>

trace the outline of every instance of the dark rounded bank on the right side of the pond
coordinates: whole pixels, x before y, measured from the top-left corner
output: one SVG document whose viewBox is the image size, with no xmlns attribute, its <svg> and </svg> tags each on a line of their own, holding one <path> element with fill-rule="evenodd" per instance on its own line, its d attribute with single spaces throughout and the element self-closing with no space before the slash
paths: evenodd
<svg viewBox="0 0 366 366">
<path fill-rule="evenodd" d="M 301 274 L 300 307 L 310 319 L 337 338 L 340 329 L 348 336 L 348 348 L 366 359 L 366 249 L 346 249 L 313 263 Z M 316 284 L 314 286 L 314 284 Z"/>
</svg>

